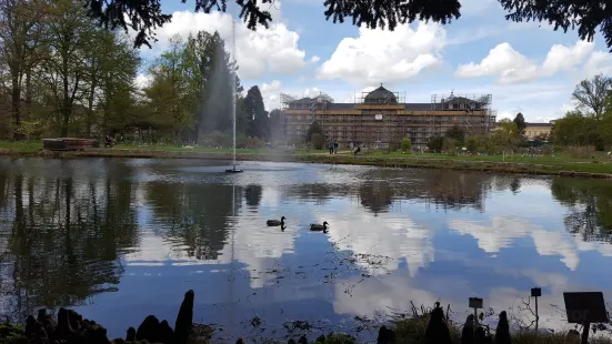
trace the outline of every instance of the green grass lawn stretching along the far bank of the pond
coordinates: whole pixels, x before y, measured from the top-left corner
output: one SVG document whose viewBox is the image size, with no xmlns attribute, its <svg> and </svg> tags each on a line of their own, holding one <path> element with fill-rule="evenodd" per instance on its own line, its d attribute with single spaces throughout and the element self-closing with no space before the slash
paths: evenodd
<svg viewBox="0 0 612 344">
<path fill-rule="evenodd" d="M 17 155 L 36 155 L 42 149 L 42 142 L 8 142 L 0 141 L 0 154 L 11 153 Z M 131 153 L 130 153 L 131 152 Z M 205 158 L 207 153 L 231 154 L 231 148 L 197 146 L 184 148 L 178 145 L 153 144 L 132 145 L 118 144 L 112 149 L 99 149 L 87 152 L 69 152 L 72 156 L 154 156 L 154 158 Z M 148 152 L 153 152 L 150 154 Z M 159 152 L 160 154 L 154 154 Z M 175 152 L 177 154 L 172 154 Z M 190 154 L 193 153 L 193 154 Z M 237 149 L 237 154 L 242 160 L 268 160 L 265 156 L 294 155 L 304 162 L 321 163 L 355 163 L 369 165 L 400 165 L 422 168 L 450 168 L 464 170 L 488 170 L 516 173 L 556 174 L 560 171 L 610 173 L 612 174 L 612 159 L 605 152 L 596 152 L 595 159 L 576 159 L 565 154 L 544 156 L 521 156 L 519 154 L 503 155 L 448 155 L 435 153 L 401 152 L 387 153 L 383 151 L 370 151 L 364 154 L 353 155 L 349 150 L 340 150 L 338 154 L 330 155 L 327 150 L 295 150 L 293 152 L 271 149 Z M 60 155 L 61 156 L 61 155 Z M 211 155 L 212 158 L 212 155 Z"/>
</svg>

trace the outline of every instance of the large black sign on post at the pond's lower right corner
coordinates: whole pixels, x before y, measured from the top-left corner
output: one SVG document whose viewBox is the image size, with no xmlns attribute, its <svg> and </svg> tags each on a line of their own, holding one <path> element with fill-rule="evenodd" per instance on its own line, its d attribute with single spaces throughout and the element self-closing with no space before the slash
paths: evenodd
<svg viewBox="0 0 612 344">
<path fill-rule="evenodd" d="M 602 292 L 563 293 L 568 323 L 582 324 L 582 344 L 589 343 L 591 323 L 608 323 Z"/>
</svg>

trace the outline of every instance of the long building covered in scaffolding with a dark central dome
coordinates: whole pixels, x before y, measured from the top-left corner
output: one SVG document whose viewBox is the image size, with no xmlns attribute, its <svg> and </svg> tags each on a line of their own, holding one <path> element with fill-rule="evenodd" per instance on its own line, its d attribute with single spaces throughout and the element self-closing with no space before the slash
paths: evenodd
<svg viewBox="0 0 612 344">
<path fill-rule="evenodd" d="M 325 140 L 341 144 L 384 148 L 389 142 L 410 138 L 413 146 L 424 146 L 432 136 L 444 135 L 453 125 L 466 135 L 490 132 L 495 125 L 491 94 L 433 94 L 431 103 L 408 103 L 405 93 L 391 92 L 382 84 L 371 92 L 355 94 L 353 103 L 335 103 L 321 92 L 314 98 L 281 93 L 282 128 L 285 138 L 303 142 L 313 121 Z"/>
</svg>

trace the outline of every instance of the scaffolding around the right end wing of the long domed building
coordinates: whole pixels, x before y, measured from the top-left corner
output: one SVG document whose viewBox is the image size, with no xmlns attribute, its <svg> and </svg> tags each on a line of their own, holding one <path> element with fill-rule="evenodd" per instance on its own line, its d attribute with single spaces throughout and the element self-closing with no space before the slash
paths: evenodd
<svg viewBox="0 0 612 344">
<path fill-rule="evenodd" d="M 492 94 L 432 94 L 431 110 L 435 111 L 460 111 L 463 114 L 453 117 L 452 124 L 463 128 L 466 134 L 488 133 L 495 123 L 495 113 L 491 109 Z M 437 132 L 442 132 L 442 124 L 447 123 L 448 119 L 438 120 L 435 115 L 429 118 L 429 122 L 434 128 L 438 125 Z M 478 122 L 476 122 L 478 121 Z"/>
</svg>

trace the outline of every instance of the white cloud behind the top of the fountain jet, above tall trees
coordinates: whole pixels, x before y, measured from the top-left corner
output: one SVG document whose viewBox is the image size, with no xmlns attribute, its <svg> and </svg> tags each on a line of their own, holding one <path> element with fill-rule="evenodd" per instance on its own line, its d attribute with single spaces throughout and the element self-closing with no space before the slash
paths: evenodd
<svg viewBox="0 0 612 344">
<path fill-rule="evenodd" d="M 280 17 L 280 10 L 272 10 L 272 16 Z M 189 33 L 198 31 L 214 32 L 232 47 L 232 17 L 228 13 L 178 11 L 172 14 L 172 21 L 157 30 L 159 42 L 153 45 L 155 51 L 168 47 L 169 39 L 180 34 L 183 39 Z M 291 74 L 305 65 L 305 52 L 300 50 L 300 36 L 291 31 L 282 22 L 274 20 L 269 29 L 258 28 L 257 31 L 247 29 L 243 22 L 235 23 L 235 50 L 241 79 L 257 79 L 267 72 Z M 143 48 L 148 49 L 148 48 Z M 231 49 L 229 49 L 231 51 Z M 147 50 L 144 50 L 147 51 Z"/>
</svg>

